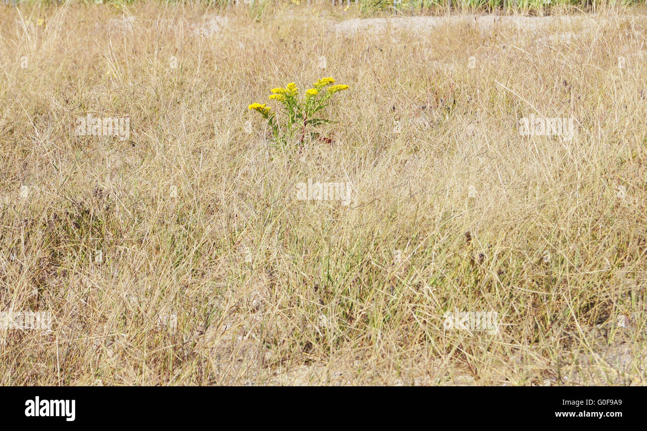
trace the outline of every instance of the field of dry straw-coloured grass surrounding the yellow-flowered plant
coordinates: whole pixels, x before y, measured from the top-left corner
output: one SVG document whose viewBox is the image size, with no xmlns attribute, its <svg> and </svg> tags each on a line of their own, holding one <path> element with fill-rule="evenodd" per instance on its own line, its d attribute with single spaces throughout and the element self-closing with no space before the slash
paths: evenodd
<svg viewBox="0 0 647 431">
<path fill-rule="evenodd" d="M 0 4 L 0 384 L 646 384 L 644 8 L 304 3 Z"/>
</svg>

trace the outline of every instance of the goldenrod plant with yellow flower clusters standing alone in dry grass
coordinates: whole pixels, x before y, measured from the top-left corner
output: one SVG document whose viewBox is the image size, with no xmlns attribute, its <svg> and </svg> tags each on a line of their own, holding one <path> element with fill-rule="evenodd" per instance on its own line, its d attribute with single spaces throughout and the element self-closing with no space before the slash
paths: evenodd
<svg viewBox="0 0 647 431">
<path fill-rule="evenodd" d="M 265 103 L 262 105 L 261 103 L 252 103 L 248 109 L 256 110 L 267 120 L 277 145 L 285 147 L 294 140 L 298 140 L 299 145 L 303 145 L 306 136 L 313 139 L 318 138 L 319 134 L 313 130 L 314 127 L 334 122 L 320 118 L 320 114 L 318 114 L 327 107 L 334 94 L 348 89 L 348 85 L 333 85 L 334 82 L 333 78 L 318 79 L 313 84 L 313 88 L 305 90 L 303 99 L 299 98 L 299 89 L 293 82 L 286 85 L 285 88 L 272 89 L 269 98 L 280 101 L 287 116 L 283 123 L 279 123 L 276 112 L 267 107 Z"/>
</svg>

